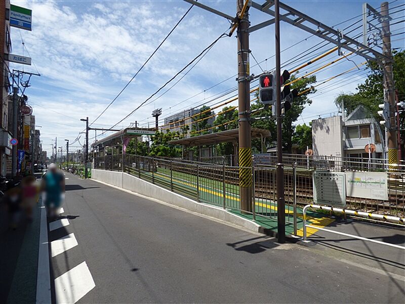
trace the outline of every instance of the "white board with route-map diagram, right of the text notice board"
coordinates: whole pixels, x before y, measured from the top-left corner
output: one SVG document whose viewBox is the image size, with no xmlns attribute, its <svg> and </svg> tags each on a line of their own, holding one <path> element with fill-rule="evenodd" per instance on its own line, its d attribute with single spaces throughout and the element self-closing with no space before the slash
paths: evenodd
<svg viewBox="0 0 405 304">
<path fill-rule="evenodd" d="M 387 178 L 385 172 L 346 172 L 347 196 L 387 201 Z"/>
</svg>

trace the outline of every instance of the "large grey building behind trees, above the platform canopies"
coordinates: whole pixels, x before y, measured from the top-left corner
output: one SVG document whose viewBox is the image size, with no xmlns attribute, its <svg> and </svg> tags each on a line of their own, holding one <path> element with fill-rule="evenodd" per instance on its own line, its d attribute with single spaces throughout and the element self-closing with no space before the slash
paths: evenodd
<svg viewBox="0 0 405 304">
<path fill-rule="evenodd" d="M 186 134 L 189 134 L 192 130 L 192 126 L 195 125 L 195 118 L 192 118 L 192 116 L 197 115 L 200 111 L 200 109 L 190 108 L 173 114 L 165 118 L 165 125 L 161 128 L 161 130 L 170 130 L 170 132 L 180 132 L 183 134 L 186 131 L 184 127 L 188 126 L 189 128 Z M 207 119 L 207 123 L 211 126 L 213 126 L 214 121 L 215 117 Z"/>
</svg>

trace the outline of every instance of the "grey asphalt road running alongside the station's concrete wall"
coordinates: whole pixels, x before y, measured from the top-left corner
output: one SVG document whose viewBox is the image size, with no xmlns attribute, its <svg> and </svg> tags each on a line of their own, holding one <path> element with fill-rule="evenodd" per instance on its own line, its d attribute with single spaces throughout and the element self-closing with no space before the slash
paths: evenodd
<svg viewBox="0 0 405 304">
<path fill-rule="evenodd" d="M 61 276 L 81 265 L 86 275 L 68 278 L 89 287 L 77 293 L 81 303 L 403 303 L 404 281 L 384 270 L 356 267 L 325 250 L 279 245 L 92 180 L 66 177 L 61 215 L 69 225 L 51 231 L 49 239 L 52 247 L 52 241 L 74 234 L 77 245 L 64 244 L 66 250 L 55 256 L 50 250 L 51 282 L 58 281 L 52 284 L 53 301 L 69 292 L 60 289 Z"/>
</svg>

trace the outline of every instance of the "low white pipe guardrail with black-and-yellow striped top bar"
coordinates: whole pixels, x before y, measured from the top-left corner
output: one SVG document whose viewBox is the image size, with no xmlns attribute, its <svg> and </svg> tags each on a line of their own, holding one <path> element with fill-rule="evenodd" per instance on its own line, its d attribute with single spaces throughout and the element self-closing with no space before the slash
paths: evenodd
<svg viewBox="0 0 405 304">
<path fill-rule="evenodd" d="M 365 218 L 386 220 L 386 221 L 391 221 L 391 222 L 395 222 L 395 223 L 402 223 L 402 224 L 405 223 L 405 218 L 402 218 L 402 217 L 396 217 L 396 216 L 391 216 L 391 215 L 382 215 L 382 214 L 373 214 L 373 213 L 356 211 L 356 210 L 347 210 L 347 209 L 342 209 L 342 208 L 334 208 L 334 207 L 329 207 L 329 206 L 320 206 L 320 205 L 311 204 L 311 205 L 306 205 L 302 210 L 302 213 L 303 213 L 302 214 L 302 219 L 303 219 L 302 230 L 303 230 L 303 241 L 304 242 L 309 242 L 307 240 L 307 227 L 310 227 L 310 228 L 314 228 L 317 230 L 326 231 L 326 232 L 330 232 L 330 233 L 334 233 L 334 234 L 338 234 L 338 235 L 342 235 L 342 236 L 346 236 L 346 237 L 350 237 L 350 238 L 355 238 L 355 239 L 359 239 L 359 240 L 363 240 L 363 241 L 369 241 L 369 242 L 386 245 L 386 246 L 390 246 L 390 247 L 395 247 L 395 248 L 399 248 L 399 249 L 405 249 L 405 247 L 399 246 L 396 244 L 390 244 L 390 243 L 381 242 L 378 240 L 368 239 L 368 238 L 355 236 L 355 235 L 351 235 L 351 234 L 347 234 L 347 233 L 343 233 L 343 232 L 339 232 L 339 231 L 333 231 L 333 230 L 329 230 L 329 229 L 325 229 L 325 228 L 321 228 L 321 227 L 317 227 L 317 226 L 308 225 L 306 222 L 306 211 L 309 208 L 339 212 L 342 214 L 355 215 L 355 216 L 365 217 Z"/>
</svg>

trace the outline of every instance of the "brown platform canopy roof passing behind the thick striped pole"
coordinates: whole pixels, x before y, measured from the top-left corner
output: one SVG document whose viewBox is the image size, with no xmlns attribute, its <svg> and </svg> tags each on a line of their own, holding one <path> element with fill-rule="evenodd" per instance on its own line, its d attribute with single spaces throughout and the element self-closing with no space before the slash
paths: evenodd
<svg viewBox="0 0 405 304">
<path fill-rule="evenodd" d="M 270 131 L 258 128 L 252 128 L 252 138 L 270 137 Z M 179 144 L 183 146 L 201 146 L 214 145 L 221 142 L 237 143 L 239 139 L 239 129 L 226 130 L 216 133 L 187 137 L 169 141 L 170 144 Z"/>
</svg>

